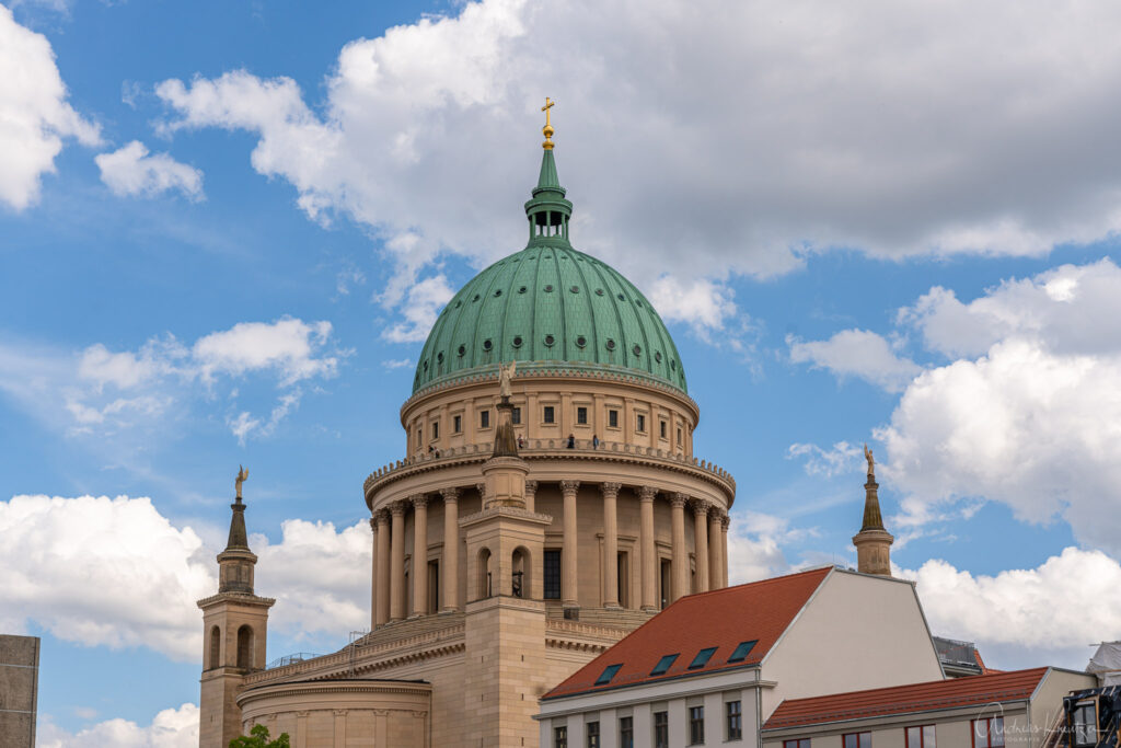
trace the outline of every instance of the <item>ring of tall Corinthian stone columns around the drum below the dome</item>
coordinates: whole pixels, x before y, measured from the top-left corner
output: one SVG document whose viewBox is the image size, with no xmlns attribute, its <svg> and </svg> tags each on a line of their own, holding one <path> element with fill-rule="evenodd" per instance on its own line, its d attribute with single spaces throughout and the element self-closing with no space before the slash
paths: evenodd
<svg viewBox="0 0 1121 748">
<path fill-rule="evenodd" d="M 526 508 L 534 511 L 538 482 L 526 481 Z M 565 608 L 580 607 L 578 590 L 578 537 L 577 501 L 580 481 L 559 481 L 563 496 L 562 517 L 562 573 L 560 601 Z M 480 493 L 482 484 L 478 486 Z M 618 497 L 622 483 L 599 483 L 603 497 L 603 602 L 605 608 L 620 608 L 619 566 L 614 560 L 619 554 Z M 462 609 L 460 600 L 460 527 L 458 499 L 461 489 L 444 488 L 439 496 L 444 501 L 444 553 L 439 560 L 439 606 L 441 612 Z M 658 574 L 660 560 L 657 553 L 654 524 L 654 502 L 659 493 L 657 488 L 636 488 L 639 499 L 639 567 L 641 570 L 640 607 L 656 611 L 658 601 Z M 663 492 L 670 506 L 670 578 L 673 602 L 683 594 L 706 592 L 728 587 L 728 512 L 704 499 L 683 492 Z M 370 519 L 373 532 L 373 625 L 423 616 L 428 610 L 428 502 L 432 495 L 415 495 L 390 502 L 374 512 Z M 685 510 L 691 508 L 694 519 L 693 548 L 695 554 L 695 589 L 691 590 L 689 556 L 685 539 Z M 406 610 L 408 594 L 405 588 L 405 515 L 413 509 L 413 604 Z M 469 587 L 470 589 L 470 587 Z"/>
</svg>

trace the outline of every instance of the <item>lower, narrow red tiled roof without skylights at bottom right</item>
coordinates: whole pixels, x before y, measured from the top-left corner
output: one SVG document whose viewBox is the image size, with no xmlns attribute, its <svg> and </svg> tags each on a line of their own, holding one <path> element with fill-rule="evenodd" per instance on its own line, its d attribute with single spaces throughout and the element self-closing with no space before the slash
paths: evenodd
<svg viewBox="0 0 1121 748">
<path fill-rule="evenodd" d="M 765 730 L 840 722 L 886 714 L 1023 701 L 1047 674 L 1047 667 L 990 675 L 967 675 L 946 681 L 850 691 L 812 699 L 787 699 L 770 715 Z"/>
</svg>

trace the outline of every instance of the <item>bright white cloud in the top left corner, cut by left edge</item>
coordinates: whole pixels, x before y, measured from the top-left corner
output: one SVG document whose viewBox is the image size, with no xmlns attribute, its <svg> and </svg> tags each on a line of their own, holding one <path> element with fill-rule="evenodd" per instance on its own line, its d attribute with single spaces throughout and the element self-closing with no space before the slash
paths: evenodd
<svg viewBox="0 0 1121 748">
<path fill-rule="evenodd" d="M 55 170 L 63 138 L 101 142 L 98 126 L 66 98 L 50 43 L 0 6 L 0 202 L 17 211 L 38 200 L 40 177 Z"/>
</svg>

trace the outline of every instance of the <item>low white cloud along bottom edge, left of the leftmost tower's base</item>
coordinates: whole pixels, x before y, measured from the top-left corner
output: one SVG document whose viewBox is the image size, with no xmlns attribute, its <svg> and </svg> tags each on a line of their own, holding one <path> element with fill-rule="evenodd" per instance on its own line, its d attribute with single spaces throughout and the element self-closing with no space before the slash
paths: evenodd
<svg viewBox="0 0 1121 748">
<path fill-rule="evenodd" d="M 178 709 L 165 709 L 147 727 L 112 719 L 68 732 L 49 719 L 41 719 L 35 737 L 39 748 L 195 748 L 198 705 L 186 703 Z"/>
</svg>

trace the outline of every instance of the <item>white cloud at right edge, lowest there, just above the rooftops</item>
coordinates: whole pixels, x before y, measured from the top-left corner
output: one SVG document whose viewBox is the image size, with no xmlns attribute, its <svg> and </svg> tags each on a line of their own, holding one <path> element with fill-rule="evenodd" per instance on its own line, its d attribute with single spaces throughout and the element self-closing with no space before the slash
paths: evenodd
<svg viewBox="0 0 1121 748">
<path fill-rule="evenodd" d="M 991 666 L 1082 669 L 1087 645 L 1118 636 L 1121 565 L 1099 551 L 1069 547 L 1037 569 L 991 576 L 941 560 L 896 573 L 917 581 L 935 635 L 976 641 Z"/>
</svg>

